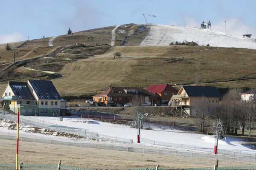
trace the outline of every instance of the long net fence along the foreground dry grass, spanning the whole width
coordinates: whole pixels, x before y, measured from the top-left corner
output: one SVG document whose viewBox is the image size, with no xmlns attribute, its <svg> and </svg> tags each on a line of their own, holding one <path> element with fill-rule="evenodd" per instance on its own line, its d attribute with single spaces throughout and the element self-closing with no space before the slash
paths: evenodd
<svg viewBox="0 0 256 170">
<path fill-rule="evenodd" d="M 16 136 L 0 135 L 0 139 L 16 140 Z M 32 138 L 26 138 L 26 137 L 20 137 L 19 140 L 23 142 L 38 142 L 38 143 L 58 144 L 58 145 L 65 145 L 65 146 L 120 150 L 120 151 L 126 151 L 126 152 L 134 152 L 134 153 L 150 153 L 150 154 L 157 154 L 157 155 L 183 156 L 183 157 L 191 157 L 191 158 L 227 159 L 231 161 L 256 162 L 255 158 L 253 159 L 253 158 L 247 158 L 247 157 L 213 155 L 209 153 L 192 153 L 188 151 L 148 149 L 148 148 L 141 148 L 141 147 L 124 147 L 124 146 L 117 146 L 113 144 L 111 145 L 111 144 L 62 142 L 62 141 L 56 141 L 56 140 L 50 140 L 50 139 L 32 139 Z"/>
</svg>

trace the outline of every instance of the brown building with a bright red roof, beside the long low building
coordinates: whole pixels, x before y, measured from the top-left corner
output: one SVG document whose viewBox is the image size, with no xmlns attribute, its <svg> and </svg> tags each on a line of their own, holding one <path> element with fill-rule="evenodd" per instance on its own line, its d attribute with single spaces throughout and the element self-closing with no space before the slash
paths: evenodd
<svg viewBox="0 0 256 170">
<path fill-rule="evenodd" d="M 169 85 L 168 83 L 150 85 L 145 90 L 158 96 L 157 105 L 168 105 L 168 102 L 172 98 L 172 95 L 178 93 L 178 90 Z"/>
</svg>

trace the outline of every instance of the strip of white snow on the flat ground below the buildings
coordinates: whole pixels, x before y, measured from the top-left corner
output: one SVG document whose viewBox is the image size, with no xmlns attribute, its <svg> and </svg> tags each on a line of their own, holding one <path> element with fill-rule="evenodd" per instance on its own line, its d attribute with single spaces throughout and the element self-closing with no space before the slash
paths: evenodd
<svg viewBox="0 0 256 170">
<path fill-rule="evenodd" d="M 21 116 L 23 117 L 23 116 Z M 26 116 L 28 117 L 28 116 Z M 80 119 L 79 117 L 64 117 L 63 121 L 58 121 L 58 118 L 54 117 L 34 117 L 33 119 L 38 119 L 40 121 L 44 120 L 44 123 L 54 123 L 58 126 L 64 125 L 71 128 L 77 128 L 81 130 L 90 130 L 97 132 L 99 134 L 104 134 L 108 136 L 116 136 L 119 138 L 133 139 L 136 141 L 137 129 L 129 127 L 126 125 L 115 125 L 108 122 L 101 122 L 93 119 Z M 2 127 L 1 127 L 2 126 Z M 156 140 L 160 142 L 169 142 L 175 144 L 188 144 L 196 145 L 201 147 L 213 148 L 215 144 L 214 136 L 207 136 L 204 134 L 192 133 L 189 131 L 177 130 L 173 125 L 159 125 L 145 123 L 144 127 L 150 127 L 151 130 L 141 129 L 141 138 Z M 0 124 L 0 134 L 15 134 L 15 130 L 7 130 L 3 125 Z M 66 137 L 60 136 L 46 136 L 44 134 L 28 133 L 27 131 L 21 130 L 21 136 L 33 137 L 38 139 L 55 139 L 61 141 L 68 141 Z M 76 142 L 81 142 L 81 139 L 76 139 Z M 92 142 L 89 139 L 82 139 L 83 142 Z M 241 144 L 241 140 L 237 138 L 226 138 L 224 140 L 219 140 L 218 148 L 225 150 L 234 150 L 248 153 L 256 153 L 255 150 L 244 147 Z M 134 145 L 134 144 L 133 144 Z M 136 144 L 140 146 L 150 146 L 150 144 Z"/>
</svg>

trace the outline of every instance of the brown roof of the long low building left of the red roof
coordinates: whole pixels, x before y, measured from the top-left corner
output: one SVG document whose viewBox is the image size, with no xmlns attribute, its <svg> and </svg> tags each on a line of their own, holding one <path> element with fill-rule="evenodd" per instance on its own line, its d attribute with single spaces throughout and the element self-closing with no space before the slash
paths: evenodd
<svg viewBox="0 0 256 170">
<path fill-rule="evenodd" d="M 134 93 L 129 93 L 129 90 Z M 152 94 L 149 91 L 146 91 L 144 88 L 134 88 L 134 87 L 111 87 L 107 91 L 102 92 L 101 94 L 97 94 L 96 96 L 153 96 L 157 97 L 157 95 Z"/>
</svg>

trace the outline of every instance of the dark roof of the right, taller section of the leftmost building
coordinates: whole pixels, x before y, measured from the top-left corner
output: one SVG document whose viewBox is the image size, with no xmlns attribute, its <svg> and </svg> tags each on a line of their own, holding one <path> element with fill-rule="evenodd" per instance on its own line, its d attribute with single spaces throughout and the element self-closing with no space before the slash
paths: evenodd
<svg viewBox="0 0 256 170">
<path fill-rule="evenodd" d="M 58 94 L 52 81 L 49 80 L 28 80 L 39 99 L 58 99 L 61 96 Z"/>
</svg>

